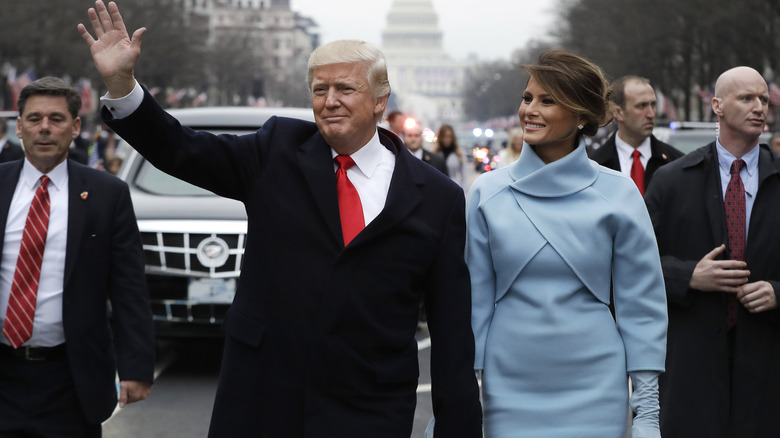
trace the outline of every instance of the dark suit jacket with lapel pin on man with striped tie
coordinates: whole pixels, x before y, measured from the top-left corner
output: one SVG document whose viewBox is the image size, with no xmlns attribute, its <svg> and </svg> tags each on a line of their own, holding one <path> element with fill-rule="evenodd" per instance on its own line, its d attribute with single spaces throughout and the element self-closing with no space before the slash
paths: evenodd
<svg viewBox="0 0 780 438">
<path fill-rule="evenodd" d="M 0 251 L 23 163 L 0 164 Z M 89 421 L 99 423 L 116 406 L 117 370 L 121 380 L 153 380 L 154 326 L 127 184 L 73 160 L 67 164 L 62 323 L 81 407 Z"/>
</svg>

